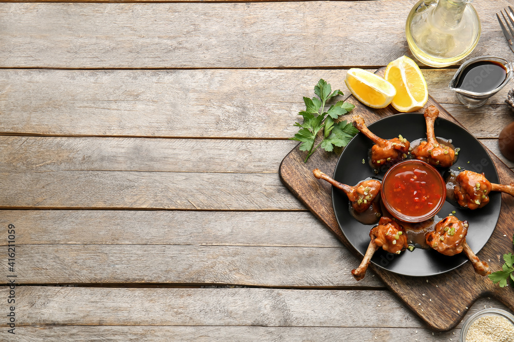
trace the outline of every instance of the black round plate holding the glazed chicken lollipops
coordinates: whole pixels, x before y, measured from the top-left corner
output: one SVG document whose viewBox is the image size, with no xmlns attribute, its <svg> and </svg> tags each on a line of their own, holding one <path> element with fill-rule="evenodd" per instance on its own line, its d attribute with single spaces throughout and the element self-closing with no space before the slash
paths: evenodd
<svg viewBox="0 0 514 342">
<path fill-rule="evenodd" d="M 415 139 L 426 138 L 426 124 L 422 113 L 404 113 L 388 116 L 377 120 L 368 126 L 370 130 L 381 138 L 391 139 L 398 134 L 407 138 L 409 142 Z M 457 162 L 450 168 L 458 170 L 471 170 L 485 173 L 491 183 L 500 183 L 498 172 L 492 159 L 482 144 L 468 131 L 444 118 L 437 118 L 435 122 L 435 135 L 452 139 L 455 147 L 460 147 Z M 344 148 L 334 170 L 333 178 L 338 182 L 356 185 L 367 177 L 382 178 L 383 172 L 376 175 L 368 165 L 368 150 L 373 146 L 370 139 L 358 133 Z M 362 164 L 362 159 L 366 160 Z M 439 169 L 443 174 L 448 169 Z M 477 253 L 489 240 L 500 216 L 501 194 L 491 192 L 490 202 L 483 208 L 469 210 L 452 205 L 446 201 L 437 214 L 444 218 L 453 210 L 460 220 L 468 220 L 469 229 L 466 242 Z M 359 223 L 348 212 L 348 198 L 336 188 L 332 188 L 332 205 L 334 213 L 344 236 L 350 244 L 362 255 L 370 244 L 370 229 L 373 227 Z M 448 272 L 467 261 L 464 253 L 445 256 L 432 249 L 416 248 L 413 252 L 405 251 L 395 255 L 383 251 L 381 248 L 375 253 L 371 262 L 378 267 L 394 273 L 409 276 L 429 276 Z M 357 265 L 356 265 L 357 266 Z"/>
</svg>

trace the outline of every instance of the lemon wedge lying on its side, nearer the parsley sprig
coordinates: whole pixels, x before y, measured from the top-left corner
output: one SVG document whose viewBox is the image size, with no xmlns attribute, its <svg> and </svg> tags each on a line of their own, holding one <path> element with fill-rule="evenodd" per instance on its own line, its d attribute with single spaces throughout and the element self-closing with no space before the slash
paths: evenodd
<svg viewBox="0 0 514 342">
<path fill-rule="evenodd" d="M 348 70 L 344 83 L 361 103 L 371 108 L 387 107 L 396 94 L 396 89 L 391 83 L 359 68 Z"/>
</svg>

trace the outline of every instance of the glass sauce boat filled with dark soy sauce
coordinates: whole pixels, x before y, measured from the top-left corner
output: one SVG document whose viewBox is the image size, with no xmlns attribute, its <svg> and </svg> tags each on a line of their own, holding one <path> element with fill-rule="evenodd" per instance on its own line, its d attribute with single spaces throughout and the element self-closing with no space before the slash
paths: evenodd
<svg viewBox="0 0 514 342">
<path fill-rule="evenodd" d="M 460 102 L 467 107 L 480 107 L 499 92 L 512 78 L 513 66 L 500 56 L 468 59 L 450 81 Z"/>
</svg>

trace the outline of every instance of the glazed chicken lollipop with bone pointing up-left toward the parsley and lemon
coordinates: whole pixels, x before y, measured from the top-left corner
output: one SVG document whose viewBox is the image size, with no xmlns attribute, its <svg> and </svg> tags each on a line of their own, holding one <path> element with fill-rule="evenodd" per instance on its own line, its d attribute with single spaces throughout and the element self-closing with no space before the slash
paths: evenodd
<svg viewBox="0 0 514 342">
<path fill-rule="evenodd" d="M 364 119 L 358 115 L 353 117 L 353 125 L 375 143 L 371 148 L 371 162 L 374 168 L 394 164 L 407 157 L 410 143 L 401 135 L 389 140 L 379 138 L 366 127 Z"/>
</svg>

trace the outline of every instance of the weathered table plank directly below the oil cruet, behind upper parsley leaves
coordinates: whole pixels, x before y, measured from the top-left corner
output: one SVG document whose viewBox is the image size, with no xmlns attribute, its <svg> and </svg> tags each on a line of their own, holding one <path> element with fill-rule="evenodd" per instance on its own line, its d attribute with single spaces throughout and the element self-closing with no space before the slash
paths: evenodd
<svg viewBox="0 0 514 342">
<path fill-rule="evenodd" d="M 431 94 L 475 136 L 497 138 L 514 120 L 503 104 L 507 88 L 491 98 L 492 105 L 468 109 L 447 89 L 453 69 L 423 72 Z M 302 97 L 314 96 L 320 78 L 350 94 L 345 75 L 346 70 L 4 69 L 0 134 L 287 139 L 297 131 Z"/>
</svg>

